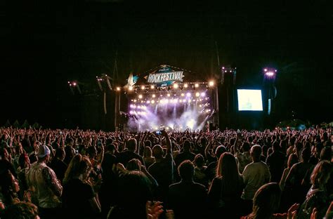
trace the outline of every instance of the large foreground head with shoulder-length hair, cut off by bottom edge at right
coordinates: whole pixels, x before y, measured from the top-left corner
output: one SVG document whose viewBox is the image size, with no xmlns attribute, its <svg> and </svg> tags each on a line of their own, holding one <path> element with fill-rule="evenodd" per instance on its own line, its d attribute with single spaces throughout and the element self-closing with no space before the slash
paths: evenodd
<svg viewBox="0 0 333 219">
<path fill-rule="evenodd" d="M 261 186 L 254 194 L 252 217 L 271 218 L 280 206 L 280 199 L 281 190 L 278 183 L 268 183 Z"/>
</svg>

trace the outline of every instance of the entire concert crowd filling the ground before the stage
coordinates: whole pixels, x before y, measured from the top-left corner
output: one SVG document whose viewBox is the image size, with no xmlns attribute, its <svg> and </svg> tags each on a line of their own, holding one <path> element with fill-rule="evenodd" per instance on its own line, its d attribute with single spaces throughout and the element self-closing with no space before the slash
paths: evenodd
<svg viewBox="0 0 333 219">
<path fill-rule="evenodd" d="M 332 218 L 331 128 L 0 128 L 0 218 Z"/>
</svg>

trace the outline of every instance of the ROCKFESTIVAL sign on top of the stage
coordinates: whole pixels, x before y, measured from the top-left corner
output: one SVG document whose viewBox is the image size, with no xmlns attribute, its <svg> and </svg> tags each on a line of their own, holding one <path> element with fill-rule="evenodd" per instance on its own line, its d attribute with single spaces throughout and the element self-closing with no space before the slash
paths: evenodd
<svg viewBox="0 0 333 219">
<path fill-rule="evenodd" d="M 147 82 L 149 84 L 156 84 L 157 86 L 170 86 L 174 82 L 182 82 L 183 73 L 183 71 L 174 71 L 170 67 L 162 67 L 157 72 L 150 73 Z"/>
</svg>

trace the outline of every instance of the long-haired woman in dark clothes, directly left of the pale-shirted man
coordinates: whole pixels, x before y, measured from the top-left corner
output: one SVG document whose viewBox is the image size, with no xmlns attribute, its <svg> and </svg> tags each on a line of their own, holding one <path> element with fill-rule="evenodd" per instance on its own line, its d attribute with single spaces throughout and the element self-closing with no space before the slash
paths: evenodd
<svg viewBox="0 0 333 219">
<path fill-rule="evenodd" d="M 242 175 L 233 154 L 225 152 L 218 159 L 216 178 L 209 188 L 209 204 L 214 217 L 226 215 L 226 218 L 239 218 L 241 195 L 244 189 Z"/>
</svg>

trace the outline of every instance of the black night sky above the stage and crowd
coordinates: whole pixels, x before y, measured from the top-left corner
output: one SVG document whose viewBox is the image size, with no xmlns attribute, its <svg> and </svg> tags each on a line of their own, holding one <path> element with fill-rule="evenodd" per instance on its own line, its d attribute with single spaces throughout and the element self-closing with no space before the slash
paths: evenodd
<svg viewBox="0 0 333 219">
<path fill-rule="evenodd" d="M 9 2 L 9 1 L 8 1 Z M 315 2 L 315 1 L 313 1 Z M 201 1 L 70 1 L 5 4 L 1 11 L 1 117 L 56 126 L 73 112 L 68 80 L 97 89 L 161 64 L 217 73 L 237 67 L 237 83 L 261 85 L 279 70 L 277 102 L 288 119 L 332 120 L 332 27 L 328 1 L 313 4 Z M 1 9 L 2 10 L 2 9 Z"/>
</svg>

